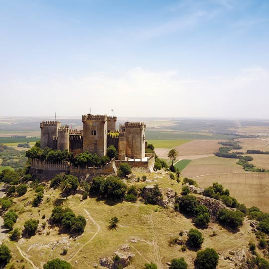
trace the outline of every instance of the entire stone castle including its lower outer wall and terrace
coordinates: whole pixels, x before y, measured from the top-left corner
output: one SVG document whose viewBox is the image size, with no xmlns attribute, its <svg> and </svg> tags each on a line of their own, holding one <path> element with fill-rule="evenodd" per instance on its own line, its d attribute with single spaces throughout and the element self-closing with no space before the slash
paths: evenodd
<svg viewBox="0 0 269 269">
<path fill-rule="evenodd" d="M 103 167 L 74 167 L 66 161 L 53 163 L 32 159 L 30 173 L 40 179 L 52 179 L 58 173 L 72 174 L 80 179 L 91 180 L 94 176 L 117 174 L 118 167 L 128 163 L 132 168 L 143 168 L 152 172 L 155 154 L 145 153 L 144 123 L 126 122 L 116 130 L 117 117 L 87 114 L 82 116 L 83 130 L 61 126 L 59 121 L 40 123 L 40 147 L 68 150 L 74 155 L 82 152 L 107 154 L 107 148 L 114 145 L 118 159 L 111 159 Z"/>
</svg>

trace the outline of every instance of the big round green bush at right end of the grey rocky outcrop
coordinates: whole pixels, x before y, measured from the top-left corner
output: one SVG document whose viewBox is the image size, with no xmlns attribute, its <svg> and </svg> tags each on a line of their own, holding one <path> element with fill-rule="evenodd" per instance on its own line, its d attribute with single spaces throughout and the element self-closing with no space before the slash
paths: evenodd
<svg viewBox="0 0 269 269">
<path fill-rule="evenodd" d="M 228 209 L 221 209 L 218 213 L 218 220 L 221 224 L 238 228 L 243 224 L 244 213 L 241 211 L 230 211 Z"/>
</svg>

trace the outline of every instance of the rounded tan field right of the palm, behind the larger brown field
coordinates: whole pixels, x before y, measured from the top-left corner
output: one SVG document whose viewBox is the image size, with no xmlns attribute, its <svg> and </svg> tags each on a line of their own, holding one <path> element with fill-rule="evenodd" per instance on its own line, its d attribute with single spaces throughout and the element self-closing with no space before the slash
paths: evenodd
<svg viewBox="0 0 269 269">
<path fill-rule="evenodd" d="M 184 177 L 196 177 L 210 174 L 244 173 L 243 167 L 236 164 L 237 161 L 238 159 L 216 156 L 192 160 L 183 170 L 182 175 Z"/>
</svg>

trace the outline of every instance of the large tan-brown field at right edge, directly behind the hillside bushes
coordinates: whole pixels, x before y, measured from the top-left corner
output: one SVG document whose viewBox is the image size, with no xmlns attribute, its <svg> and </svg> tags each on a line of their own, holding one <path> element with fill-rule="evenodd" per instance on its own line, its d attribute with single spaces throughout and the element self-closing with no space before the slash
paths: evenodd
<svg viewBox="0 0 269 269">
<path fill-rule="evenodd" d="M 269 212 L 269 173 L 212 174 L 194 179 L 201 187 L 219 182 L 230 190 L 231 196 L 247 207 L 257 206 L 262 211 Z"/>
</svg>

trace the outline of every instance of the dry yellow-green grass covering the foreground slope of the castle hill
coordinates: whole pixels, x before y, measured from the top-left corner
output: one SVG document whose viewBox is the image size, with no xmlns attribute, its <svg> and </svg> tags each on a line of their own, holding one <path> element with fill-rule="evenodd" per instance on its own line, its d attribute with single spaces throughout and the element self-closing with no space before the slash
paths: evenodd
<svg viewBox="0 0 269 269">
<path fill-rule="evenodd" d="M 137 174 L 139 175 L 139 174 Z M 150 174 L 149 179 L 156 179 L 160 187 L 171 187 L 180 191 L 181 185 L 176 181 L 168 179 L 168 176 L 160 173 Z M 171 185 L 173 183 L 173 185 Z M 134 183 L 138 186 L 145 183 Z M 155 183 L 152 183 L 155 184 Z M 54 258 L 61 258 L 71 263 L 73 269 L 93 268 L 99 263 L 100 258 L 110 257 L 124 244 L 131 247 L 130 252 L 135 254 L 130 269 L 143 268 L 145 263 L 153 262 L 158 269 L 166 269 L 166 263 L 173 258 L 184 257 L 190 269 L 193 269 L 193 259 L 196 252 L 187 249 L 181 252 L 181 246 L 169 246 L 171 238 L 178 236 L 182 230 L 194 228 L 191 219 L 172 209 L 163 209 L 156 205 L 145 205 L 141 202 L 122 202 L 110 204 L 104 200 L 88 198 L 81 202 L 81 195 L 71 195 L 67 200 L 62 199 L 64 207 L 70 207 L 75 214 L 81 214 L 87 219 L 85 232 L 77 239 L 67 234 L 60 234 L 58 228 L 50 227 L 48 219 L 51 210 L 58 198 L 57 190 L 46 188 L 44 201 L 38 208 L 33 208 L 29 201 L 34 196 L 34 191 L 26 195 L 14 198 L 14 206 L 19 218 L 14 228 L 22 228 L 25 220 L 35 218 L 39 223 L 46 222 L 44 230 L 40 230 L 35 236 L 29 239 L 21 239 L 18 243 L 5 242 L 12 251 L 13 261 L 21 261 L 25 269 L 32 266 L 18 252 L 16 246 L 27 256 L 37 268 Z M 42 219 L 45 214 L 45 219 Z M 108 220 L 117 216 L 120 219 L 117 231 L 108 230 Z M 167 225 L 169 222 L 169 225 Z M 204 236 L 202 249 L 214 246 L 217 252 L 228 255 L 231 250 L 246 248 L 254 234 L 248 223 L 244 223 L 239 233 L 231 235 L 230 232 L 221 228 L 218 224 L 210 224 L 208 229 L 200 230 Z M 212 235 L 213 231 L 217 236 Z M 131 240 L 136 239 L 136 243 Z M 67 254 L 61 256 L 63 249 Z M 12 262 L 12 261 L 11 261 Z M 218 269 L 229 268 L 229 260 L 220 260 Z"/>
</svg>

